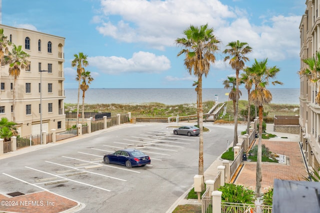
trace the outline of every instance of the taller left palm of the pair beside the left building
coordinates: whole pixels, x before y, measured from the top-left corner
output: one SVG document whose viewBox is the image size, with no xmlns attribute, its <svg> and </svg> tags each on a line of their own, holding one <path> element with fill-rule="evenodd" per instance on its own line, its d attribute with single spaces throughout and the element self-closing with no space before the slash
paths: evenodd
<svg viewBox="0 0 320 213">
<path fill-rule="evenodd" d="M 88 65 L 86 60 L 87 55 L 84 55 L 83 52 L 79 52 L 79 55 L 74 54 L 74 59 L 71 61 L 71 66 L 76 66 L 76 79 L 78 81 L 78 102 L 76 105 L 76 124 L 79 123 L 79 101 L 80 101 L 80 84 L 81 84 L 81 73 L 84 72 L 84 67 Z"/>
</svg>

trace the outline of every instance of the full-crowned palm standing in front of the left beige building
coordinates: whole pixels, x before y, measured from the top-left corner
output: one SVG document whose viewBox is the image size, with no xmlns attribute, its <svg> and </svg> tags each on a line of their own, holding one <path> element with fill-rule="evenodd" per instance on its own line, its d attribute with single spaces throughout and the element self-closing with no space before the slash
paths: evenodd
<svg viewBox="0 0 320 213">
<path fill-rule="evenodd" d="M 11 52 L 8 52 L 7 56 L 4 56 L 5 63 L 9 64 L 9 76 L 14 77 L 13 81 L 13 104 L 12 104 L 12 121 L 15 122 L 15 85 L 16 80 L 20 75 L 20 70 L 25 69 L 29 66 L 29 61 L 27 58 L 30 57 L 29 54 L 22 50 L 21 45 L 16 46 L 13 44 Z"/>
</svg>

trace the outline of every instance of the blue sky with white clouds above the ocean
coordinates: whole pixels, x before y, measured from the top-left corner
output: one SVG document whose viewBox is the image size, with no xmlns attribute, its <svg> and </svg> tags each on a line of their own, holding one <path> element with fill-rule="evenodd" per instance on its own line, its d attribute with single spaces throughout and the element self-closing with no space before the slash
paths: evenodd
<svg viewBox="0 0 320 213">
<path fill-rule="evenodd" d="M 64 88 L 77 88 L 74 54 L 87 55 L 90 88 L 192 88 L 175 39 L 208 24 L 220 40 L 203 88 L 235 76 L 222 51 L 239 40 L 254 59 L 277 66 L 283 85 L 299 88 L 299 24 L 305 0 L 0 0 L 1 23 L 65 38 Z M 241 87 L 241 86 L 240 86 Z"/>
</svg>

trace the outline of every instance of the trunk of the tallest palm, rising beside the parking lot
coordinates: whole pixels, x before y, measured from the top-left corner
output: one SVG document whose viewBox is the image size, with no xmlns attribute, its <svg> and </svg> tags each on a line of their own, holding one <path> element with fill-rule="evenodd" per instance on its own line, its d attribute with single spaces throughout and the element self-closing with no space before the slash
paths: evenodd
<svg viewBox="0 0 320 213">
<path fill-rule="evenodd" d="M 198 95 L 199 95 L 199 171 L 198 175 L 203 177 L 203 109 L 202 109 L 202 76 L 198 76 Z M 204 177 L 202 182 L 204 182 Z M 202 186 L 204 190 L 204 185 Z"/>
</svg>

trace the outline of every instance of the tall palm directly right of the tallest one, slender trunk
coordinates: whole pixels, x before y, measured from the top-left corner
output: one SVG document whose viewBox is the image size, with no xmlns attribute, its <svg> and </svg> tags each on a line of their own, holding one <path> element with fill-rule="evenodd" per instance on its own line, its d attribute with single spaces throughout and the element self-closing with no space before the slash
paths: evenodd
<svg viewBox="0 0 320 213">
<path fill-rule="evenodd" d="M 252 51 L 252 48 L 246 42 L 232 41 L 227 44 L 229 49 L 223 51 L 224 54 L 228 54 L 223 59 L 224 61 L 229 60 L 229 64 L 232 69 L 235 69 L 235 78 L 236 78 L 236 91 L 239 90 L 239 72 L 244 67 L 244 62 L 249 59 L 245 56 L 247 53 Z M 238 102 L 239 102 L 239 93 L 236 93 L 235 98 L 235 116 L 234 116 L 234 134 L 233 134 L 233 147 L 238 143 Z"/>
</svg>

